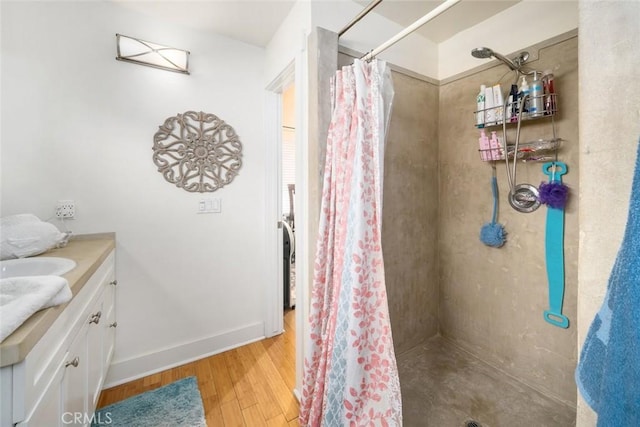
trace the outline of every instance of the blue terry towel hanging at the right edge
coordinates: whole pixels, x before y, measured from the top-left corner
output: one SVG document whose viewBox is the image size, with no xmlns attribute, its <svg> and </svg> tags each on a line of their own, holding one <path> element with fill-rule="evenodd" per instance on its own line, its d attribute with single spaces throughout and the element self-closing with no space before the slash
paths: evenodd
<svg viewBox="0 0 640 427">
<path fill-rule="evenodd" d="M 598 426 L 640 426 L 640 145 L 627 227 L 576 383 Z"/>
</svg>

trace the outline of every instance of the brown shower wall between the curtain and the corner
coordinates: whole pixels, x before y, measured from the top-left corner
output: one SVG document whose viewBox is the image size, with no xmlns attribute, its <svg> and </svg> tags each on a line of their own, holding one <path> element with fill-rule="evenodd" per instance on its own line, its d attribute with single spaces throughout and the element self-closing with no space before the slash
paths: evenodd
<svg viewBox="0 0 640 427">
<path fill-rule="evenodd" d="M 438 87 L 395 72 L 393 85 L 382 249 L 393 340 L 402 353 L 438 332 Z"/>
</svg>

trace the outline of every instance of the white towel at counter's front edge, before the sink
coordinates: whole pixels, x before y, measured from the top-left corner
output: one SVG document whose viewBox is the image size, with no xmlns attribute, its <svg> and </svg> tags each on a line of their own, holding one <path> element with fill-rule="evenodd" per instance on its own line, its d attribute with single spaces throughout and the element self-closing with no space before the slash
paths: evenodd
<svg viewBox="0 0 640 427">
<path fill-rule="evenodd" d="M 24 276 L 0 279 L 0 342 L 33 313 L 71 300 L 67 279 L 60 276 Z"/>
</svg>

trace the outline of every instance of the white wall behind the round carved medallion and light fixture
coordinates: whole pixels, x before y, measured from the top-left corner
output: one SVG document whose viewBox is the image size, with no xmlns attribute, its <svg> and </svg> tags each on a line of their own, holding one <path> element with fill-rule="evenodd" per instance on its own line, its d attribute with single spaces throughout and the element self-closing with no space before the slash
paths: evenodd
<svg viewBox="0 0 640 427">
<path fill-rule="evenodd" d="M 190 50 L 192 74 L 116 61 L 116 32 Z M 117 3 L 2 3 L 1 214 L 44 219 L 69 198 L 74 233 L 117 233 L 111 383 L 264 335 L 264 59 Z M 158 126 L 187 110 L 243 143 L 239 176 L 215 193 L 187 193 L 152 162 Z M 221 214 L 196 214 L 207 197 Z"/>
</svg>

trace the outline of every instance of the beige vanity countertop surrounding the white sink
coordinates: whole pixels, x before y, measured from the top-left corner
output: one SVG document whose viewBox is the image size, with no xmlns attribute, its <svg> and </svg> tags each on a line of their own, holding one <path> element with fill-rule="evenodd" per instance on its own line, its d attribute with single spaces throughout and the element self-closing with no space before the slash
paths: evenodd
<svg viewBox="0 0 640 427">
<path fill-rule="evenodd" d="M 64 248 L 51 249 L 38 256 L 70 258 L 76 262 L 76 267 L 63 276 L 75 297 L 115 246 L 115 233 L 78 235 Z M 0 344 L 0 367 L 24 360 L 67 304 L 38 311 L 5 338 Z"/>
</svg>

